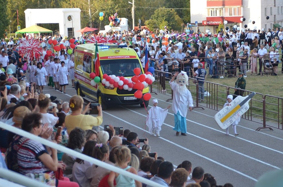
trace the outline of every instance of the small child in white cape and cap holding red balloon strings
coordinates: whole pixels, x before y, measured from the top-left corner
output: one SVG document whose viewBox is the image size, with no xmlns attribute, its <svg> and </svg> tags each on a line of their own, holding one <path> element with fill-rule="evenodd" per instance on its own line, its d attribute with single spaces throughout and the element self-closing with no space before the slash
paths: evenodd
<svg viewBox="0 0 283 187">
<path fill-rule="evenodd" d="M 163 124 L 168 109 L 171 107 L 170 105 L 166 109 L 162 109 L 157 106 L 157 99 L 152 100 L 153 107 L 148 110 L 148 120 L 146 121 L 146 126 L 151 134 L 154 134 L 156 131 L 156 136 L 160 136 L 159 132 L 161 131 L 161 125 Z"/>
</svg>

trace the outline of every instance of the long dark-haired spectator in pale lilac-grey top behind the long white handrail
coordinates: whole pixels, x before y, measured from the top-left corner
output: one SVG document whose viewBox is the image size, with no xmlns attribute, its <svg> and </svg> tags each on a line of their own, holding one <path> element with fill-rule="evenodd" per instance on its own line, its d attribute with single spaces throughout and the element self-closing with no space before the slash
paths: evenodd
<svg viewBox="0 0 283 187">
<path fill-rule="evenodd" d="M 87 156 L 92 156 L 92 150 L 96 145 L 96 141 L 90 140 L 87 141 L 84 145 L 84 150 L 82 151 L 83 154 Z M 92 163 L 77 158 L 74 165 L 73 165 L 73 181 L 77 182 L 80 187 L 89 187 L 90 186 L 90 178 L 91 172 L 89 172 L 89 168 L 92 167 Z"/>
</svg>

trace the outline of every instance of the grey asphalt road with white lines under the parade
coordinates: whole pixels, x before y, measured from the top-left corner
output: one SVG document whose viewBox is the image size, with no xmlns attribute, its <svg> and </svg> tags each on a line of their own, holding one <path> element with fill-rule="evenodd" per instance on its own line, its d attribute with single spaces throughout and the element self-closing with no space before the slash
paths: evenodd
<svg viewBox="0 0 283 187">
<path fill-rule="evenodd" d="M 76 95 L 76 90 L 67 87 L 67 94 L 45 88 L 45 93 L 56 96 L 63 101 Z M 172 105 L 165 102 L 168 96 L 152 95 L 158 99 L 158 106 L 166 108 Z M 152 106 L 152 99 L 147 109 Z M 283 168 L 283 135 L 282 130 L 255 129 L 261 125 L 241 119 L 237 125 L 238 137 L 227 136 L 225 130 L 218 127 L 213 119 L 217 113 L 212 109 L 194 109 L 187 114 L 187 136 L 175 135 L 174 113 L 169 109 L 160 131 L 161 137 L 150 135 L 145 130 L 146 110 L 139 105 L 108 107 L 103 111 L 103 125 L 112 124 L 116 127 L 131 129 L 139 138 L 148 138 L 151 152 L 157 152 L 165 160 L 178 166 L 184 160 L 192 162 L 193 168 L 201 166 L 206 173 L 212 174 L 217 185 L 230 182 L 234 187 L 254 186 L 257 179 L 265 172 Z M 229 128 L 233 133 L 232 127 Z"/>
</svg>

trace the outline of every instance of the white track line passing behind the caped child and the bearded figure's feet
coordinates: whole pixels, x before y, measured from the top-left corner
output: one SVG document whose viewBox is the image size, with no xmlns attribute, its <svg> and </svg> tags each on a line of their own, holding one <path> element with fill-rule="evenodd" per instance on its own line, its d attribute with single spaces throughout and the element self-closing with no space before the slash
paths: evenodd
<svg viewBox="0 0 283 187">
<path fill-rule="evenodd" d="M 123 107 L 123 108 L 125 108 L 125 107 Z M 127 108 L 125 108 L 125 109 L 127 109 Z M 143 115 L 143 114 L 138 113 L 138 112 L 136 112 L 136 111 L 133 111 L 133 110 L 131 110 L 131 109 L 127 109 L 127 110 L 132 111 L 132 112 L 134 112 L 134 113 L 136 113 L 136 114 L 139 114 L 139 115 L 142 115 L 142 116 L 146 117 L 146 115 Z M 172 128 L 173 128 L 173 126 L 171 126 L 171 125 L 168 125 L 168 124 L 166 124 L 166 123 L 163 123 L 163 124 L 166 125 L 166 126 L 168 126 L 168 127 L 172 127 Z M 234 153 L 237 153 L 237 154 L 239 154 L 239 155 L 245 156 L 245 157 L 247 157 L 247 158 L 250 158 L 250 159 L 252 159 L 252 160 L 255 160 L 255 161 L 257 161 L 257 162 L 260 162 L 260 163 L 262 163 L 262 164 L 271 166 L 271 167 L 276 168 L 276 169 L 278 169 L 278 170 L 281 169 L 281 168 L 279 168 L 279 167 L 277 167 L 277 166 L 273 166 L 272 164 L 268 164 L 267 162 L 263 162 L 263 161 L 261 161 L 261 160 L 258 160 L 258 159 L 256 159 L 256 158 L 253 158 L 253 157 L 251 157 L 251 156 L 249 156 L 249 155 L 246 155 L 246 154 L 244 154 L 244 153 L 240 153 L 240 152 L 238 152 L 238 151 L 235 151 L 235 150 L 233 150 L 233 149 L 230 149 L 230 148 L 228 148 L 228 147 L 225 147 L 225 146 L 223 146 L 223 145 L 220 145 L 220 144 L 215 143 L 215 142 L 213 142 L 213 141 L 210 141 L 210 140 L 208 140 L 208 139 L 199 137 L 199 136 L 197 136 L 197 135 L 194 135 L 194 134 L 191 134 L 191 133 L 188 133 L 188 132 L 187 132 L 187 134 L 192 135 L 192 136 L 194 136 L 194 137 L 197 137 L 197 138 L 199 138 L 199 139 L 202 139 L 202 140 L 204 140 L 204 141 L 207 141 L 207 142 L 209 142 L 209 143 L 212 143 L 212 144 L 214 144 L 214 145 L 217 145 L 217 146 L 219 146 L 219 147 L 222 147 L 222 148 L 224 148 L 224 149 L 227 149 L 227 150 L 229 150 L 229 151 L 232 151 L 232 152 L 234 152 Z"/>
</svg>

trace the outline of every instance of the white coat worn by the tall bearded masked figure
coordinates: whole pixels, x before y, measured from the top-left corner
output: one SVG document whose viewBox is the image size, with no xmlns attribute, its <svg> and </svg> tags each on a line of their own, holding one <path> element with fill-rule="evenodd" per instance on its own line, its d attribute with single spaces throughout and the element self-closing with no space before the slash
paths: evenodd
<svg viewBox="0 0 283 187">
<path fill-rule="evenodd" d="M 189 107 L 193 107 L 193 98 L 191 92 L 186 89 L 185 94 L 180 94 L 178 92 L 178 85 L 175 81 L 169 82 L 170 87 L 172 88 L 173 94 L 173 103 L 172 103 L 172 110 L 175 114 L 180 113 L 182 117 L 186 117 Z"/>
</svg>

